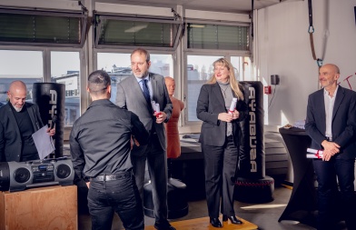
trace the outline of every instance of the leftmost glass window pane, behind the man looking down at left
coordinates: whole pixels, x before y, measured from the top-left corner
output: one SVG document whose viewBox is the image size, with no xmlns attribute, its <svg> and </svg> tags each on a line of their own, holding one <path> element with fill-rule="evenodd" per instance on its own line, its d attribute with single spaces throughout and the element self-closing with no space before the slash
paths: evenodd
<svg viewBox="0 0 356 230">
<path fill-rule="evenodd" d="M 11 82 L 21 80 L 27 86 L 26 101 L 32 102 L 34 83 L 43 82 L 42 51 L 0 50 L 0 105 L 6 103 Z"/>
</svg>

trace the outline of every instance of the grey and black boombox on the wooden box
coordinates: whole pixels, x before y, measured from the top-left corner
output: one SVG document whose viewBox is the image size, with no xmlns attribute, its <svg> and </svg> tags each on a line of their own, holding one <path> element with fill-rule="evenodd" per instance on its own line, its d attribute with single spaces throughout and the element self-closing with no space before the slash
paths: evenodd
<svg viewBox="0 0 356 230">
<path fill-rule="evenodd" d="M 0 163 L 0 191 L 15 192 L 48 185 L 74 185 L 71 159 Z"/>
</svg>

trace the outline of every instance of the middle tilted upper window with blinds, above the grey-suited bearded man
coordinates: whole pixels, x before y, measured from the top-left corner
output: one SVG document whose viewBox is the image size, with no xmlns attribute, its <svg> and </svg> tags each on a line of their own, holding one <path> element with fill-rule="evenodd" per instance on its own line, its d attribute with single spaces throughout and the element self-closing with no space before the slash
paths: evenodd
<svg viewBox="0 0 356 230">
<path fill-rule="evenodd" d="M 178 45 L 182 22 L 95 15 L 95 47 L 145 46 L 174 49 Z"/>
</svg>

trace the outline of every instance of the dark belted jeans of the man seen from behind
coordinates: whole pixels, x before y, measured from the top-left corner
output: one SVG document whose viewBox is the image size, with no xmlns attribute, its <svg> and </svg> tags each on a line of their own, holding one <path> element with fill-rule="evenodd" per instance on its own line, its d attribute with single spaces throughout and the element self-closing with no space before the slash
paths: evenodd
<svg viewBox="0 0 356 230">
<path fill-rule="evenodd" d="M 110 230 L 114 212 L 126 230 L 143 229 L 143 205 L 132 172 L 114 181 L 92 181 L 88 192 L 93 230 Z"/>
</svg>

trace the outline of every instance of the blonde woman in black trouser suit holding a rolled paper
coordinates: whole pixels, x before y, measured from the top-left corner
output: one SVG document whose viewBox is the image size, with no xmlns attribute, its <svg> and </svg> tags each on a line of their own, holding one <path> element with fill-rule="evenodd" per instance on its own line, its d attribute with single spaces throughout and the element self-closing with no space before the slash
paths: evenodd
<svg viewBox="0 0 356 230">
<path fill-rule="evenodd" d="M 233 74 L 233 66 L 225 58 L 213 63 L 213 76 L 202 86 L 196 114 L 203 121 L 199 142 L 204 155 L 205 191 L 213 227 L 222 227 L 223 221 L 241 225 L 233 210 L 234 175 L 242 145 L 240 122 L 247 115 L 242 86 Z M 236 108 L 230 110 L 232 98 L 237 98 Z M 220 204 L 220 197 L 222 197 Z"/>
</svg>

